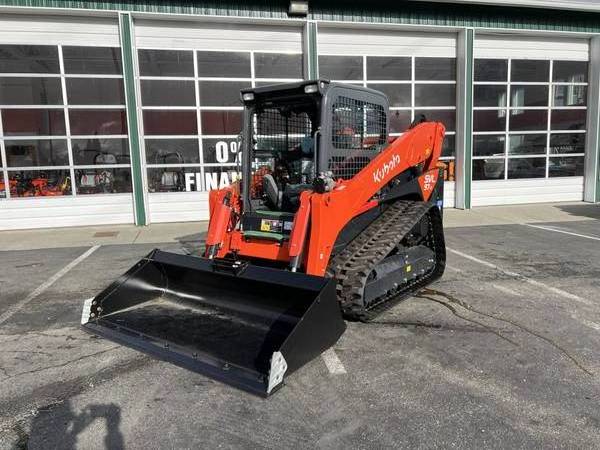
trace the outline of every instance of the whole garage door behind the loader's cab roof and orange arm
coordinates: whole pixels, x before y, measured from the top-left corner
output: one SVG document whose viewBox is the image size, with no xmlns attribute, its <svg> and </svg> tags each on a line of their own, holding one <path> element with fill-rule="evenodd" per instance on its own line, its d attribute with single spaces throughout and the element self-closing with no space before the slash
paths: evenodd
<svg viewBox="0 0 600 450">
<path fill-rule="evenodd" d="M 446 125 L 444 204 L 454 206 L 456 35 L 319 27 L 319 74 L 384 92 L 390 134 L 424 114 Z"/>
</svg>

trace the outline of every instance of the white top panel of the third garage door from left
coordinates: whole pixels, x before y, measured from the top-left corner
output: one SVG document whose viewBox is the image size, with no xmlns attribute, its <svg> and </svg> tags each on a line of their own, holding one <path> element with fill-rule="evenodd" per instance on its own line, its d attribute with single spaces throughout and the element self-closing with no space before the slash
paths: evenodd
<svg viewBox="0 0 600 450">
<path fill-rule="evenodd" d="M 390 30 L 347 30 L 319 27 L 319 54 L 381 56 L 456 56 L 456 35 Z"/>
</svg>

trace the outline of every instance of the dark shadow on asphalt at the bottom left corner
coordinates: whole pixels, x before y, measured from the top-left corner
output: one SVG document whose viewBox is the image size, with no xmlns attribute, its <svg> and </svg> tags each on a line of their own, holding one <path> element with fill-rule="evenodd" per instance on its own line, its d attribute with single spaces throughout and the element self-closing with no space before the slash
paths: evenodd
<svg viewBox="0 0 600 450">
<path fill-rule="evenodd" d="M 94 448 L 111 450 L 125 448 L 120 429 L 120 406 L 114 403 L 92 404 L 78 413 L 73 410 L 70 401 L 39 411 L 31 423 L 27 448 L 65 450 L 86 448 L 88 446 L 83 442 L 78 443 L 78 435 L 97 420 L 104 422 L 106 431 L 104 436 L 98 434 L 98 437 L 94 439 Z M 93 434 L 96 434 L 95 430 Z"/>
</svg>

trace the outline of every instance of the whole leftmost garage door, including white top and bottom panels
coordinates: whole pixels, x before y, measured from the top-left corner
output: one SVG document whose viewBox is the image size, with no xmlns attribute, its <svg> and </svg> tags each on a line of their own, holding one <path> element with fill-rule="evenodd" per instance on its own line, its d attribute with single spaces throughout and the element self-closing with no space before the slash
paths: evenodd
<svg viewBox="0 0 600 450">
<path fill-rule="evenodd" d="M 133 223 L 116 19 L 0 19 L 0 229 Z"/>
</svg>

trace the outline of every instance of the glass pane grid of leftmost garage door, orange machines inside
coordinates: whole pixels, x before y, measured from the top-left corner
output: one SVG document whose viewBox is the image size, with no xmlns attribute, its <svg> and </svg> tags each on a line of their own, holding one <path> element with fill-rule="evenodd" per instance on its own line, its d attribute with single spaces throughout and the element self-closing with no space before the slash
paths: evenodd
<svg viewBox="0 0 600 450">
<path fill-rule="evenodd" d="M 0 46 L 0 196 L 131 192 L 121 51 Z"/>
</svg>

